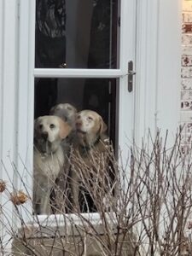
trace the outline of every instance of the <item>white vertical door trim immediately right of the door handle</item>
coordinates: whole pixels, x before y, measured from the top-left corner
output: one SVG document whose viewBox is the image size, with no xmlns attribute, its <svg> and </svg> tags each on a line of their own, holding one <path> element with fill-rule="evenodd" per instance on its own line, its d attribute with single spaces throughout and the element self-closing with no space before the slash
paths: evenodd
<svg viewBox="0 0 192 256">
<path fill-rule="evenodd" d="M 138 1 L 137 5 L 137 76 L 136 118 L 137 143 L 155 130 L 155 88 L 158 32 L 158 0 Z"/>
</svg>

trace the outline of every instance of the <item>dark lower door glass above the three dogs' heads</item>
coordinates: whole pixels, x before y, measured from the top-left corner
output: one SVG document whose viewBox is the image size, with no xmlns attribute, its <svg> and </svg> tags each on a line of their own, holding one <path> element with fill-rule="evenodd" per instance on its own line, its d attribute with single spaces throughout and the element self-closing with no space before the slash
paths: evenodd
<svg viewBox="0 0 192 256">
<path fill-rule="evenodd" d="M 78 111 L 91 109 L 108 124 L 114 142 L 116 87 L 118 79 L 35 79 L 35 119 L 47 115 L 59 103 L 70 103 Z"/>
</svg>

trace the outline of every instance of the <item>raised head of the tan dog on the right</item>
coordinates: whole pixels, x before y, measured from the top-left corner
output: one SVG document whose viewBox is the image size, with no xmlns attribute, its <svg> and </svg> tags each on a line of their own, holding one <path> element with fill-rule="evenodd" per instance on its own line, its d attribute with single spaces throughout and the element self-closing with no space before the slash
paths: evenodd
<svg viewBox="0 0 192 256">
<path fill-rule="evenodd" d="M 76 131 L 81 143 L 93 144 L 107 131 L 108 126 L 102 116 L 92 110 L 82 110 L 77 114 Z"/>
</svg>

